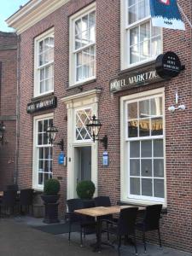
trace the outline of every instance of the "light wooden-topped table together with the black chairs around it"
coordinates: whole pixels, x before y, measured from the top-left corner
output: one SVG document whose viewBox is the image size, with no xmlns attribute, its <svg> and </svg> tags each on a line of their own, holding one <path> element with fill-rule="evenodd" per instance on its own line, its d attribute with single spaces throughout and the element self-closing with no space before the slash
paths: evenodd
<svg viewBox="0 0 192 256">
<path fill-rule="evenodd" d="M 89 203 L 88 203 L 89 202 Z M 145 232 L 157 230 L 160 241 L 160 214 L 162 205 L 153 205 L 148 207 L 134 207 L 131 205 L 111 206 L 108 196 L 99 196 L 91 201 L 81 199 L 71 199 L 67 201 L 68 212 L 66 219 L 69 223 L 68 241 L 71 241 L 71 228 L 73 224 L 79 224 L 80 227 L 80 246 L 83 247 L 83 235 L 96 234 L 96 243 L 93 251 L 101 252 L 102 244 L 113 246 L 114 241 L 110 241 L 110 235 L 117 237 L 118 250 L 121 247 L 121 241 L 130 238 L 135 246 L 137 254 L 137 230 L 143 233 L 143 246 L 146 253 Z M 143 213 L 143 218 L 137 222 L 138 212 Z M 113 218 L 115 214 L 115 218 Z M 102 233 L 106 232 L 108 242 L 102 241 Z M 161 241 L 160 241 L 161 247 Z"/>
</svg>

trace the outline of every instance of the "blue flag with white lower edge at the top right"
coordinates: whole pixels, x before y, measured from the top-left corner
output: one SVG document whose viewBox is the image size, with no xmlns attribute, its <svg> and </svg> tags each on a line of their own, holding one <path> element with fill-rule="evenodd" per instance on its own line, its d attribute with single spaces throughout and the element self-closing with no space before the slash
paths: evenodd
<svg viewBox="0 0 192 256">
<path fill-rule="evenodd" d="M 153 26 L 185 30 L 177 0 L 150 0 Z"/>
</svg>

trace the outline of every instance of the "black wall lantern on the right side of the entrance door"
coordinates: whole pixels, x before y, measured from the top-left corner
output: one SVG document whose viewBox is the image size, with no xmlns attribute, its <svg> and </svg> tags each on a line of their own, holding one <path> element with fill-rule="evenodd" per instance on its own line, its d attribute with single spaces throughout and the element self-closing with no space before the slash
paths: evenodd
<svg viewBox="0 0 192 256">
<path fill-rule="evenodd" d="M 89 120 L 89 123 L 86 125 L 88 128 L 88 131 L 90 132 L 90 137 L 92 137 L 93 142 L 99 141 L 103 144 L 103 147 L 105 150 L 108 149 L 108 136 L 105 135 L 101 140 L 99 137 L 99 132 L 102 127 L 102 124 L 99 119 L 96 119 L 96 115 L 94 114 L 92 116 L 92 119 Z"/>
</svg>

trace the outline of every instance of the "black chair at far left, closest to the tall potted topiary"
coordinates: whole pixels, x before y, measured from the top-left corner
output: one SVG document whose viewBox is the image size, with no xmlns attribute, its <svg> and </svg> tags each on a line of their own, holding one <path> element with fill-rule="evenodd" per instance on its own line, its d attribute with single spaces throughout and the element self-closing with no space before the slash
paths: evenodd
<svg viewBox="0 0 192 256">
<path fill-rule="evenodd" d="M 20 213 L 23 213 L 23 208 L 25 211 L 29 212 L 30 207 L 32 207 L 33 201 L 33 189 L 21 189 L 19 197 L 19 207 Z"/>
</svg>

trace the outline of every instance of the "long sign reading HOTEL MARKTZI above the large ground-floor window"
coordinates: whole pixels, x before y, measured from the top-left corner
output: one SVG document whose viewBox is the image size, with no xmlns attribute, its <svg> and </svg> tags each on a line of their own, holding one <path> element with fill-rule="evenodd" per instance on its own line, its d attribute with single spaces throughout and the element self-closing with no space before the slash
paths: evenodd
<svg viewBox="0 0 192 256">
<path fill-rule="evenodd" d="M 110 81 L 110 92 L 118 92 L 120 90 L 128 90 L 134 87 L 143 86 L 159 82 L 162 79 L 157 74 L 154 65 L 143 67 L 137 71 L 124 73 L 119 78 Z"/>
</svg>

